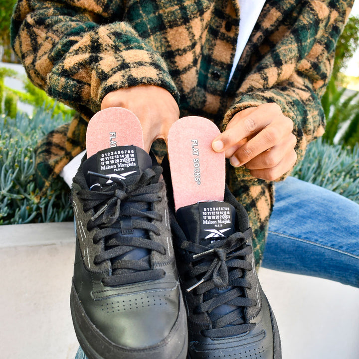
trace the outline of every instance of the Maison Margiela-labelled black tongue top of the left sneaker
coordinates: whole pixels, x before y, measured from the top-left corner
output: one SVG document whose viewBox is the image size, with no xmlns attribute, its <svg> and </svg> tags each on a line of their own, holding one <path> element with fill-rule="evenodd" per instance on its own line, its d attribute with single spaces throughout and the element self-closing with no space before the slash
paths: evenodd
<svg viewBox="0 0 359 359">
<path fill-rule="evenodd" d="M 134 175 L 141 175 L 152 167 L 150 155 L 137 146 L 111 147 L 97 152 L 83 163 L 83 170 L 87 184 L 91 190 L 100 191 L 112 180 L 99 178 L 88 174 L 88 171 L 119 179 L 127 179 Z"/>
</svg>

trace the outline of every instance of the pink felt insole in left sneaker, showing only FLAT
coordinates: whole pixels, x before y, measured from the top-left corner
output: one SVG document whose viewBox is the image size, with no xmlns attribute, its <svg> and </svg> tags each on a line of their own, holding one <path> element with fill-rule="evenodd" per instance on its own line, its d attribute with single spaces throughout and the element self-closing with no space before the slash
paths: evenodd
<svg viewBox="0 0 359 359">
<path fill-rule="evenodd" d="M 142 127 L 137 116 L 122 107 L 97 112 L 89 121 L 86 132 L 87 157 L 116 146 L 144 148 Z"/>
</svg>

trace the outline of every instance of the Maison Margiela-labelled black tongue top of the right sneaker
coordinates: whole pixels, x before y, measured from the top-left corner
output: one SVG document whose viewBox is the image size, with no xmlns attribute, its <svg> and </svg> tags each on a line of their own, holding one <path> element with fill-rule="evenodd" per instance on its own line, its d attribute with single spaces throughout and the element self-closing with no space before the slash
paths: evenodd
<svg viewBox="0 0 359 359">
<path fill-rule="evenodd" d="M 207 246 L 235 232 L 235 208 L 226 202 L 209 201 L 181 207 L 177 221 L 187 240 Z"/>
</svg>

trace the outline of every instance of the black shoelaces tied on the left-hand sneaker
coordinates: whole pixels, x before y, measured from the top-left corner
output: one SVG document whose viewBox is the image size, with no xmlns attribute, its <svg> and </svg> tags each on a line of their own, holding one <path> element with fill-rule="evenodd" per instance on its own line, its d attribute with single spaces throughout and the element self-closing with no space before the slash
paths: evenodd
<svg viewBox="0 0 359 359">
<path fill-rule="evenodd" d="M 162 215 L 152 210 L 152 204 L 161 201 L 159 194 L 163 182 L 159 182 L 161 167 L 145 170 L 142 175 L 122 180 L 111 178 L 113 183 L 101 192 L 80 190 L 84 211 L 94 209 L 94 215 L 87 223 L 87 229 L 96 228 L 93 242 L 104 240 L 104 250 L 95 256 L 94 264 L 110 260 L 111 273 L 102 279 L 106 286 L 118 286 L 163 278 L 162 269 L 152 269 L 152 251 L 166 253 L 161 243 L 150 239 L 149 232 L 160 235 L 152 219 L 162 220 Z M 92 176 L 110 179 L 105 175 L 91 173 Z M 140 229 L 144 235 L 132 235 Z M 121 259 L 134 249 L 145 249 L 147 255 L 140 259 Z"/>
</svg>

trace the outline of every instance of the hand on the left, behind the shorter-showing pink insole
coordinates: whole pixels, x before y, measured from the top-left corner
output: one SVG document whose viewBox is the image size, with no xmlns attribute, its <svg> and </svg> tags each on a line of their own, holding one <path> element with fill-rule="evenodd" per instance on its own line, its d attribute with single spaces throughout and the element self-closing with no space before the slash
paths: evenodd
<svg viewBox="0 0 359 359">
<path fill-rule="evenodd" d="M 171 93 L 162 87 L 140 85 L 109 92 L 102 100 L 101 110 L 123 107 L 140 120 L 144 150 L 150 152 L 152 143 L 162 138 L 167 142 L 171 125 L 179 119 L 179 107 Z"/>
</svg>

